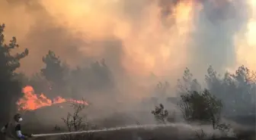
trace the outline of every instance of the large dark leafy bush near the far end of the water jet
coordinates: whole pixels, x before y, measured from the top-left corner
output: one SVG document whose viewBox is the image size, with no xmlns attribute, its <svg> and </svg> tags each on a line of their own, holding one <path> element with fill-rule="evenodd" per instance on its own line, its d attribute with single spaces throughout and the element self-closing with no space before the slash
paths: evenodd
<svg viewBox="0 0 256 140">
<path fill-rule="evenodd" d="M 210 123 L 213 129 L 219 124 L 222 101 L 206 89 L 203 92 L 191 91 L 181 95 L 181 103 L 178 105 L 184 119 L 189 122 Z"/>
</svg>

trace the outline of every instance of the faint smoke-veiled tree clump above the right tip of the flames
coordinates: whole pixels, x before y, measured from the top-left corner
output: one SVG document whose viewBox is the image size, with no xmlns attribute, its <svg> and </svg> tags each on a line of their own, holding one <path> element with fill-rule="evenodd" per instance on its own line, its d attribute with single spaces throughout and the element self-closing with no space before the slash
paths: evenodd
<svg viewBox="0 0 256 140">
<path fill-rule="evenodd" d="M 73 89 L 83 92 L 109 92 L 114 89 L 114 76 L 105 61 L 96 61 L 88 67 L 77 67 L 70 75 Z"/>
</svg>

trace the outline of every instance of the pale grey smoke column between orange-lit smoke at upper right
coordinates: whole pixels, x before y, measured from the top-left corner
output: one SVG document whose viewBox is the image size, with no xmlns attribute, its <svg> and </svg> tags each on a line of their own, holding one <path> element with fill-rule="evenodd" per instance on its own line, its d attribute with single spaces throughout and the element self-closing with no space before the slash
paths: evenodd
<svg viewBox="0 0 256 140">
<path fill-rule="evenodd" d="M 219 72 L 234 67 L 236 52 L 234 36 L 245 26 L 245 1 L 202 1 L 203 10 L 197 15 L 197 32 L 193 34 L 195 64 L 212 65 Z"/>
</svg>

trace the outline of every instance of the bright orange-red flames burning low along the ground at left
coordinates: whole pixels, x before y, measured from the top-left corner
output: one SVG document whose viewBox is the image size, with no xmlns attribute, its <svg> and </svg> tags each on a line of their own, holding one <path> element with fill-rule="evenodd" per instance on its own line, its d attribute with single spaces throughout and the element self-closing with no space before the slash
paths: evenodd
<svg viewBox="0 0 256 140">
<path fill-rule="evenodd" d="M 64 102 L 88 105 L 86 101 L 66 99 L 60 96 L 53 98 L 53 100 L 47 98 L 46 95 L 43 95 L 43 93 L 38 96 L 34 93 L 34 88 L 32 86 L 25 86 L 22 92 L 24 93 L 24 96 L 20 98 L 17 102 L 18 110 L 37 110 L 40 107 L 51 106 L 53 104 L 59 104 Z"/>
</svg>

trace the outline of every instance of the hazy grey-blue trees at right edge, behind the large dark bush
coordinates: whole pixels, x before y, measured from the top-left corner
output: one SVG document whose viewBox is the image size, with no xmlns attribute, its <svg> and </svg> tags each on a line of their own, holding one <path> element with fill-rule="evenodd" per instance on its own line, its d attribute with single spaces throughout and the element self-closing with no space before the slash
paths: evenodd
<svg viewBox="0 0 256 140">
<path fill-rule="evenodd" d="M 210 92 L 225 104 L 225 114 L 249 114 L 253 110 L 255 79 L 254 71 L 243 65 L 235 73 L 226 72 L 223 77 L 209 67 L 206 84 Z"/>
</svg>

